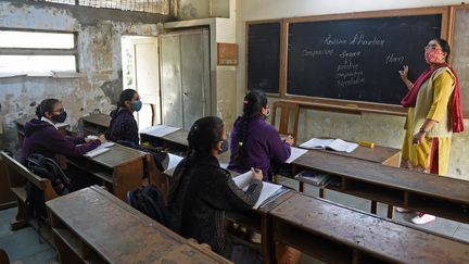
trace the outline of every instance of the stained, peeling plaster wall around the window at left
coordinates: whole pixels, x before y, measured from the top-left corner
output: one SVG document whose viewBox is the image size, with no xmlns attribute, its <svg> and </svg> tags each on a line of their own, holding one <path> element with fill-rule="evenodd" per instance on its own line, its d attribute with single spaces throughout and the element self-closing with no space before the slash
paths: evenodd
<svg viewBox="0 0 469 264">
<path fill-rule="evenodd" d="M 14 121 L 35 113 L 45 98 L 59 98 L 76 128 L 91 112 L 109 113 L 122 91 L 121 37 L 156 36 L 167 16 L 38 2 L 0 2 L 0 27 L 77 32 L 80 77 L 0 78 L 4 146 L 18 149 Z"/>
</svg>

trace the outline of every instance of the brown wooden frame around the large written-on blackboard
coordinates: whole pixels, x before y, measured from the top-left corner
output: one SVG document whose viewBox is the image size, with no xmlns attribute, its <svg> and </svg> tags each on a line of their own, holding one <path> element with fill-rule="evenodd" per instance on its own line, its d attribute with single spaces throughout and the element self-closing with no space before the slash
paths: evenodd
<svg viewBox="0 0 469 264">
<path fill-rule="evenodd" d="M 441 14 L 442 16 L 442 27 L 441 37 L 448 39 L 451 35 L 451 8 L 449 7 L 436 7 L 436 8 L 419 8 L 419 9 L 401 9 L 401 10 L 386 10 L 386 11 L 371 11 L 371 12 L 358 12 L 358 13 L 346 13 L 346 14 L 332 14 L 332 15 L 316 15 L 306 17 L 292 17 L 284 18 L 282 34 L 281 34 L 281 74 L 280 74 L 280 97 L 287 100 L 297 101 L 300 104 L 302 102 L 308 108 L 318 106 L 318 109 L 333 110 L 337 109 L 341 112 L 372 112 L 382 113 L 391 115 L 405 115 L 406 110 L 401 105 L 396 104 L 385 104 L 385 103 L 373 103 L 364 101 L 352 101 L 342 99 L 328 99 L 318 97 L 305 97 L 305 96 L 293 96 L 287 93 L 287 78 L 288 78 L 288 32 L 289 26 L 292 23 L 301 22 L 319 22 L 319 21 L 340 21 L 340 20 L 352 20 L 352 18 L 372 18 L 372 17 L 393 17 L 393 16 L 414 16 L 414 15 L 430 15 L 430 14 Z M 390 73 L 392 74 L 392 73 Z"/>
</svg>

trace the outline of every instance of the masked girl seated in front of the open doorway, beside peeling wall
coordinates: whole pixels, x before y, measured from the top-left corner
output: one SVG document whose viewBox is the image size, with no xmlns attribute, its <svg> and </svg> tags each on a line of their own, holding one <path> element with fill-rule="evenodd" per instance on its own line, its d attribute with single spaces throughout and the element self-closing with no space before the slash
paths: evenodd
<svg viewBox="0 0 469 264">
<path fill-rule="evenodd" d="M 121 92 L 117 109 L 111 112 L 111 124 L 105 133 L 105 138 L 130 147 L 132 149 L 150 152 L 139 144 L 138 125 L 134 117 L 134 112 L 140 111 L 142 102 L 140 96 L 134 89 L 125 89 Z M 152 152 L 156 167 L 163 172 L 163 160 L 166 159 L 166 153 Z"/>
</svg>

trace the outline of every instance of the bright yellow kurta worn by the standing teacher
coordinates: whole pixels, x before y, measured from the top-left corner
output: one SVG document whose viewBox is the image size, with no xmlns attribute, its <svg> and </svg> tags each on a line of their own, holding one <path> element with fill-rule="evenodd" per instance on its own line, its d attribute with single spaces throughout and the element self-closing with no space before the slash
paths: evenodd
<svg viewBox="0 0 469 264">
<path fill-rule="evenodd" d="M 447 67 L 436 70 L 422 84 L 415 108 L 407 111 L 406 133 L 403 143 L 402 166 L 429 172 L 432 138 L 439 140 L 439 175 L 446 175 L 452 140 L 451 102 L 455 77 Z M 413 137 L 426 120 L 438 122 L 420 144 L 413 144 Z"/>
</svg>

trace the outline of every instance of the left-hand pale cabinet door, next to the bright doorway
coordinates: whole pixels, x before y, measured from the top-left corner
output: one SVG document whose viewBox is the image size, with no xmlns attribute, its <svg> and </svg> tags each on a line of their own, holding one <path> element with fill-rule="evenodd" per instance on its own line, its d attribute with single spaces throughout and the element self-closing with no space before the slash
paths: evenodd
<svg viewBox="0 0 469 264">
<path fill-rule="evenodd" d="M 179 35 L 160 36 L 160 51 L 163 124 L 182 127 L 181 52 Z"/>
</svg>

